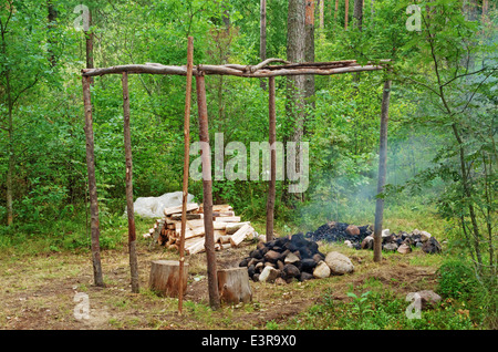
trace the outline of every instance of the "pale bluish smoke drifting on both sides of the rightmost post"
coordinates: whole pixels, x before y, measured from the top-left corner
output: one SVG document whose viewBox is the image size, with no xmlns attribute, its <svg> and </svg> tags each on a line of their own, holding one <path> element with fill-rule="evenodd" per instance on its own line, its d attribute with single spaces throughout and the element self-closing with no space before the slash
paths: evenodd
<svg viewBox="0 0 498 352">
<path fill-rule="evenodd" d="M 402 187 L 416 179 L 417 175 L 433 167 L 437 146 L 435 139 L 424 131 L 400 133 L 387 143 L 387 189 Z M 298 225 L 301 230 L 315 230 L 326 221 L 335 220 L 365 225 L 374 222 L 377 196 L 378 154 L 367 159 L 351 161 L 338 156 L 332 168 L 323 170 L 310 165 L 310 186 L 307 201 L 299 209 Z M 437 191 L 428 189 L 427 191 Z M 385 206 L 408 206 L 415 208 L 415 198 L 407 191 L 390 191 Z M 418 199 L 418 198 L 417 198 Z"/>
</svg>

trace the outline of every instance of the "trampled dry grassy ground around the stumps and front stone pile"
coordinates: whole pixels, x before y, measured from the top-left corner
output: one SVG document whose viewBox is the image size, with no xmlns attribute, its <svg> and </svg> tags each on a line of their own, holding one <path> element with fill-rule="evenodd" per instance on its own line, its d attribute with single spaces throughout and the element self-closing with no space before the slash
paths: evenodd
<svg viewBox="0 0 498 352">
<path fill-rule="evenodd" d="M 239 248 L 217 252 L 218 267 L 237 267 L 253 248 L 253 242 L 243 242 Z M 371 250 L 321 245 L 322 252 L 338 250 L 349 256 L 355 266 L 354 273 L 288 284 L 251 281 L 252 302 L 212 311 L 208 304 L 206 257 L 199 253 L 187 258 L 189 280 L 180 317 L 177 299 L 157 297 L 147 288 L 151 261 L 177 259 L 177 255 L 163 248 L 149 250 L 142 238 L 137 249 L 139 293 L 131 292 L 125 246 L 102 252 L 105 288 L 93 286 L 87 251 L 34 257 L 1 255 L 0 329 L 267 329 L 269 322 L 286 325 L 295 321 L 310 307 L 322 302 L 325 293 L 332 294 L 333 300 L 351 300 L 349 291 L 365 290 L 372 280 L 403 299 L 408 292 L 435 289 L 440 261 L 439 256 L 416 249 L 408 255 L 385 255 L 382 262 L 375 263 Z M 81 312 L 79 292 L 87 294 L 87 319 L 75 314 L 75 310 Z"/>
</svg>

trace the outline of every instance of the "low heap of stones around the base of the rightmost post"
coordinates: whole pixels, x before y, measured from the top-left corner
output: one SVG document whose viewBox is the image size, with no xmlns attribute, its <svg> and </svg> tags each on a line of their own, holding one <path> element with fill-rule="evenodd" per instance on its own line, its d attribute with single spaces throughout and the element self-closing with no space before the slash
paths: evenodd
<svg viewBox="0 0 498 352">
<path fill-rule="evenodd" d="M 373 235 L 366 236 L 361 242 L 361 249 L 373 249 Z M 418 229 L 412 232 L 400 231 L 391 234 L 388 229 L 382 231 L 382 249 L 384 251 L 398 251 L 406 255 L 412 252 L 412 248 L 422 248 L 426 253 L 439 253 L 440 244 L 427 231 Z"/>
</svg>

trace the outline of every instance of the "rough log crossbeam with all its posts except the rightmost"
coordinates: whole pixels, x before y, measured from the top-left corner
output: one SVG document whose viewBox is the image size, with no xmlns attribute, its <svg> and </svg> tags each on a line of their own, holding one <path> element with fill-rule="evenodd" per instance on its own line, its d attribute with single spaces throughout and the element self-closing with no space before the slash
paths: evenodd
<svg viewBox="0 0 498 352">
<path fill-rule="evenodd" d="M 129 97 L 128 97 L 128 75 L 129 74 L 160 74 L 160 75 L 185 75 L 187 76 L 186 107 L 185 107 L 185 161 L 184 161 L 184 188 L 183 188 L 183 216 L 181 216 L 181 237 L 180 244 L 185 238 L 186 224 L 186 201 L 188 194 L 188 158 L 189 158 L 189 115 L 190 115 L 190 90 L 191 79 L 196 79 L 197 105 L 199 115 L 199 137 L 201 142 L 209 143 L 208 115 L 206 102 L 206 75 L 234 75 L 240 77 L 256 77 L 269 80 L 269 143 L 276 142 L 276 76 L 289 75 L 334 75 L 364 71 L 384 70 L 388 60 L 381 60 L 376 63 L 359 64 L 355 60 L 332 61 L 332 62 L 312 62 L 312 63 L 290 63 L 281 59 L 268 59 L 257 65 L 193 65 L 193 38 L 188 39 L 188 55 L 186 66 L 163 65 L 158 63 L 117 65 L 105 69 L 84 69 L 82 70 L 83 99 L 85 113 L 85 136 L 86 136 L 86 166 L 89 172 L 90 189 L 90 210 L 91 210 L 91 234 L 92 234 L 92 260 L 94 268 L 94 279 L 96 286 L 104 286 L 102 279 L 102 268 L 100 258 L 100 227 L 98 227 L 98 204 L 95 182 L 95 161 L 94 161 L 94 137 L 93 137 L 93 117 L 91 103 L 91 80 L 94 76 L 106 74 L 122 75 L 123 83 L 123 110 L 124 110 L 124 142 L 126 155 L 126 205 L 128 216 L 128 248 L 129 263 L 132 271 L 132 291 L 138 292 L 137 258 L 135 253 L 135 220 L 133 211 L 133 163 L 129 137 Z M 271 65 L 271 63 L 273 63 Z M 381 144 L 382 145 L 382 144 Z M 201 152 L 203 153 L 203 152 Z M 273 208 L 276 197 L 276 151 L 270 155 L 271 177 L 269 180 L 268 201 L 267 201 L 267 235 L 273 234 Z M 210 175 L 210 155 L 203 154 L 203 175 Z M 203 177 L 205 178 L 205 177 Z M 219 307 L 219 292 L 217 282 L 217 266 L 214 242 L 212 228 L 212 189 L 211 180 L 203 180 L 204 189 L 204 219 L 206 229 L 206 257 L 208 271 L 209 302 L 211 308 Z M 180 246 L 179 277 L 183 278 L 183 263 L 185 255 Z M 181 284 L 180 284 L 181 287 Z M 183 292 L 180 289 L 178 300 L 178 311 L 181 313 Z"/>
</svg>

